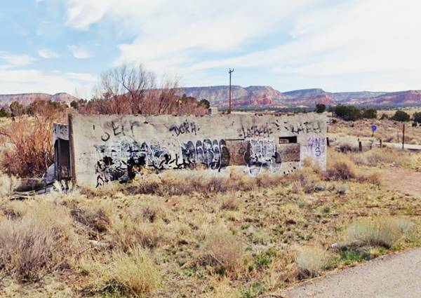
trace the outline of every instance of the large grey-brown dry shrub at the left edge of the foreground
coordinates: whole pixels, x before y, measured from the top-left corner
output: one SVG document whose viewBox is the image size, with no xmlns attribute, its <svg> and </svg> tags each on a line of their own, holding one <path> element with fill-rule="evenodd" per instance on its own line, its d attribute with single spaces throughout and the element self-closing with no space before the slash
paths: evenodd
<svg viewBox="0 0 421 298">
<path fill-rule="evenodd" d="M 22 217 L 0 223 L 0 269 L 20 281 L 36 281 L 65 266 L 81 243 L 65 208 L 34 205 Z"/>
</svg>

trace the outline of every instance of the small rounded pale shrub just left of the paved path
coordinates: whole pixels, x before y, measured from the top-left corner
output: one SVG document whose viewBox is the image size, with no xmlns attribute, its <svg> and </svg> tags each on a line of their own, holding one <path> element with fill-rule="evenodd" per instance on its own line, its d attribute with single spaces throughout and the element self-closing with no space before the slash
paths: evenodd
<svg viewBox="0 0 421 298">
<path fill-rule="evenodd" d="M 298 249 L 295 262 L 300 269 L 300 277 L 316 276 L 328 264 L 328 252 L 318 246 L 305 246 Z"/>
</svg>

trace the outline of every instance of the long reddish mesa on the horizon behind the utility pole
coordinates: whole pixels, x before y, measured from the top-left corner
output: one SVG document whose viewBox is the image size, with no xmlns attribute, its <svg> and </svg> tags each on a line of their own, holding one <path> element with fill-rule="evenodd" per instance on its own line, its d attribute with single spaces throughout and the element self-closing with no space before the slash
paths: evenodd
<svg viewBox="0 0 421 298">
<path fill-rule="evenodd" d="M 212 106 L 228 106 L 228 86 L 180 88 L 180 95 L 206 99 Z M 359 106 L 421 106 L 421 90 L 386 92 L 330 93 L 320 88 L 279 92 L 270 86 L 232 86 L 232 106 L 246 107 L 314 107 L 316 104 L 354 104 Z"/>
</svg>

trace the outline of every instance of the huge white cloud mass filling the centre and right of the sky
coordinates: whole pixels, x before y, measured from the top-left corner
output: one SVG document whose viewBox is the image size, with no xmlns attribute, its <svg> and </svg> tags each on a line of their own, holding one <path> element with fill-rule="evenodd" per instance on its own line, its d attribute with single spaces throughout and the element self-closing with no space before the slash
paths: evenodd
<svg viewBox="0 0 421 298">
<path fill-rule="evenodd" d="M 240 69 L 266 68 L 265 76 L 279 78 L 283 90 L 420 88 L 418 1 L 67 0 L 66 5 L 70 27 L 86 30 L 104 20 L 135 36 L 119 45 L 116 63 L 143 62 L 190 82 L 209 69 L 236 67 L 237 75 Z M 215 81 L 212 74 L 201 85 Z"/>
</svg>

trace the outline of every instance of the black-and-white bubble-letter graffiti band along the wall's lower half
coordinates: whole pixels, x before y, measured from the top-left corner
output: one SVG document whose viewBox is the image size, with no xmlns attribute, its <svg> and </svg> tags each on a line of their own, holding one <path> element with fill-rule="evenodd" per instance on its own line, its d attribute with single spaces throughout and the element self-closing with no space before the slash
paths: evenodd
<svg viewBox="0 0 421 298">
<path fill-rule="evenodd" d="M 250 175 L 257 176 L 262 169 L 274 173 L 281 168 L 281 156 L 274 140 L 253 139 L 245 144 L 240 149 L 243 160 L 238 165 L 246 165 Z M 114 180 L 131 180 L 141 168 L 158 171 L 206 168 L 220 171 L 233 165 L 225 140 L 181 142 L 178 151 L 170 150 L 159 142 L 120 140 L 98 145 L 96 150 L 96 187 Z"/>
</svg>

